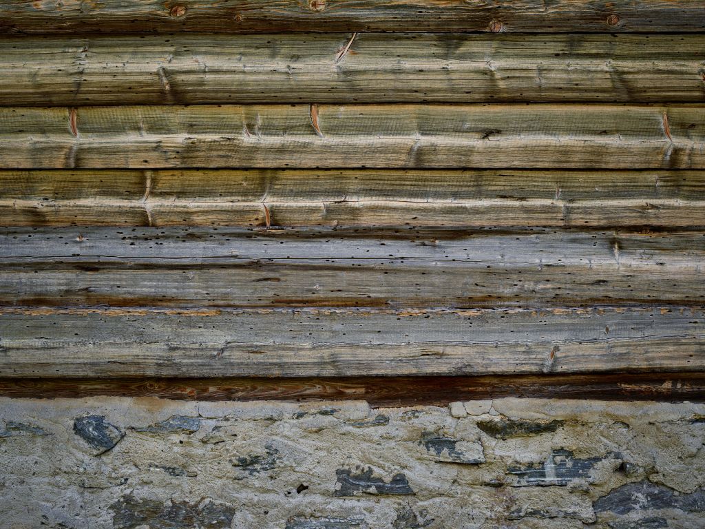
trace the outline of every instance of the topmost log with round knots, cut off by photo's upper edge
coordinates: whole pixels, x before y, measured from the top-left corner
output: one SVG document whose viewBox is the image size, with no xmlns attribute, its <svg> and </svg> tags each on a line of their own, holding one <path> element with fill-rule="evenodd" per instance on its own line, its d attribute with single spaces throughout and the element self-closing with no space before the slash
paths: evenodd
<svg viewBox="0 0 705 529">
<path fill-rule="evenodd" d="M 700 0 L 157 0 L 0 5 L 4 32 L 518 31 L 689 32 Z"/>
</svg>

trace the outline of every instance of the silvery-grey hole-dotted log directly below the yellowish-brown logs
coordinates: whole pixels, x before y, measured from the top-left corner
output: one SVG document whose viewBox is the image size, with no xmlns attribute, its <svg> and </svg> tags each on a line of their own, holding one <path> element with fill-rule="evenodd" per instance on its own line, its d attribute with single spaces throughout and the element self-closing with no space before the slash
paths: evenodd
<svg viewBox="0 0 705 529">
<path fill-rule="evenodd" d="M 5 306 L 705 303 L 702 233 L 18 228 L 0 258 Z"/>
</svg>

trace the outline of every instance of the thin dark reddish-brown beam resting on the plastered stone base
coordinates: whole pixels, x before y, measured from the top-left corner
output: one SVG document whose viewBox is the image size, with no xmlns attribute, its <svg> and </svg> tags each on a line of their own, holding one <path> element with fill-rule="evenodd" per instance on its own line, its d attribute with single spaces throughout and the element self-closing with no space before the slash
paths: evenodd
<svg viewBox="0 0 705 529">
<path fill-rule="evenodd" d="M 0 396 L 85 399 L 147 396 L 184 401 L 345 401 L 371 406 L 447 406 L 502 397 L 705 401 L 705 373 L 485 375 L 465 377 L 103 378 L 0 377 Z"/>
</svg>

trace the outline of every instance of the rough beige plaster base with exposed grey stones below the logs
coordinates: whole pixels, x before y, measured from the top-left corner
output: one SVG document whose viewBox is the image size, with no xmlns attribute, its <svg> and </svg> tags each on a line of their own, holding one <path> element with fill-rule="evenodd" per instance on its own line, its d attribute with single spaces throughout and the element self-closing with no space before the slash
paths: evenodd
<svg viewBox="0 0 705 529">
<path fill-rule="evenodd" d="M 0 527 L 696 529 L 704 442 L 692 403 L 0 399 Z"/>
</svg>

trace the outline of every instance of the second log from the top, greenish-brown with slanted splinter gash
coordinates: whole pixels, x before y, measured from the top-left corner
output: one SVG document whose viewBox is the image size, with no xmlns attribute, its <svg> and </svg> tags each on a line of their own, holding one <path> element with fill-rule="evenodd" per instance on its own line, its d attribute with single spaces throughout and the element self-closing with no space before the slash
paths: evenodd
<svg viewBox="0 0 705 529">
<path fill-rule="evenodd" d="M 705 35 L 6 37 L 0 104 L 703 102 L 704 50 Z"/>
</svg>

